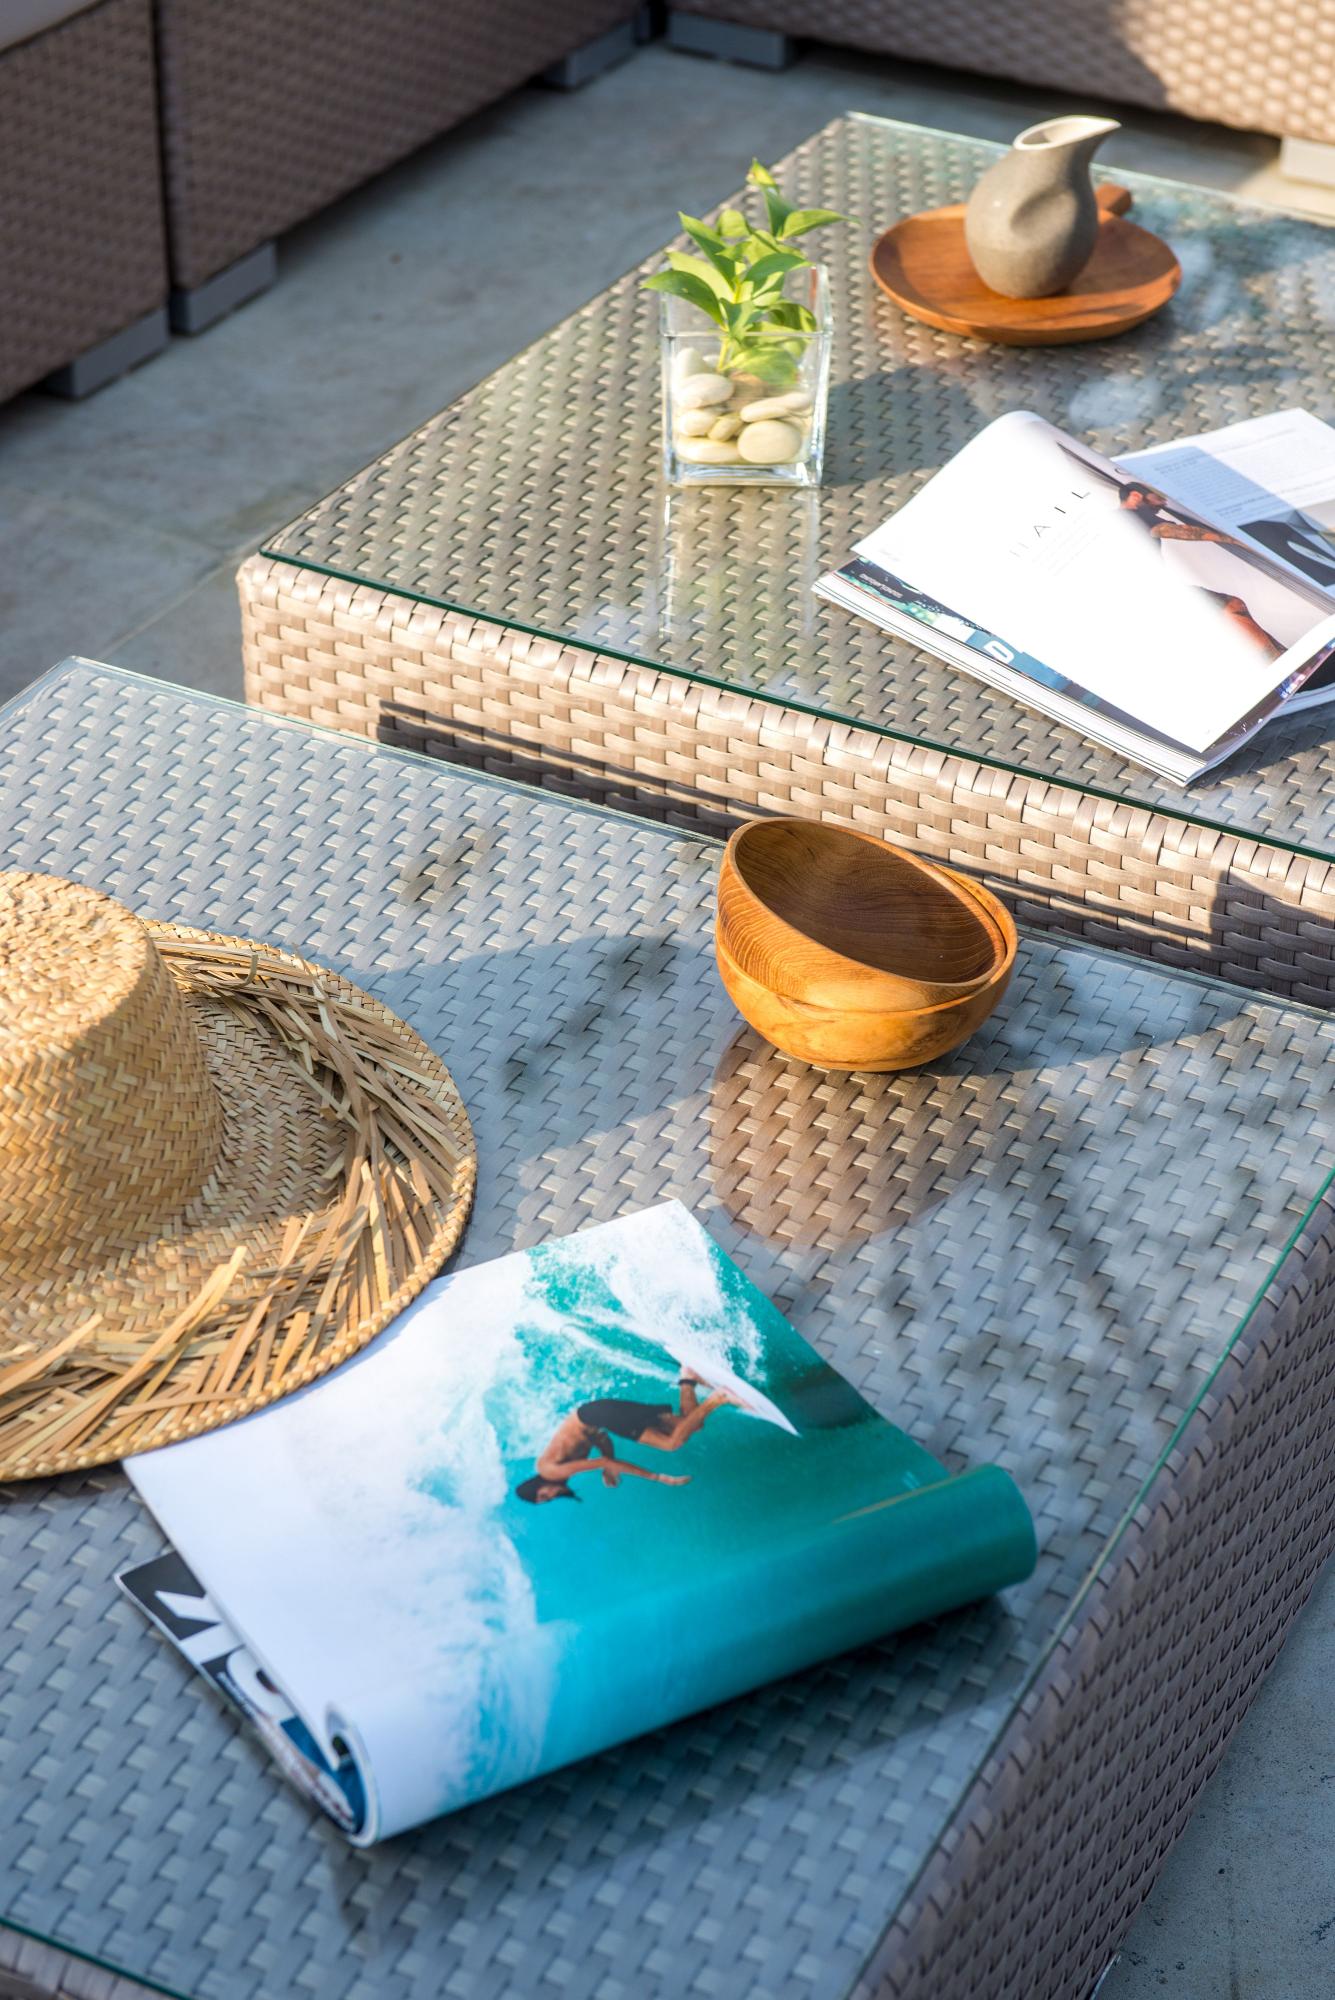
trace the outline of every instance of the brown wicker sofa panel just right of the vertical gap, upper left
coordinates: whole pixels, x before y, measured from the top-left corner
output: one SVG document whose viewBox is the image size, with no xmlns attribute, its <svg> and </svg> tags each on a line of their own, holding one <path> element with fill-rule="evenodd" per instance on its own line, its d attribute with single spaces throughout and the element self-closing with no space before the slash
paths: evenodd
<svg viewBox="0 0 1335 2000">
<path fill-rule="evenodd" d="M 634 0 L 156 0 L 172 280 L 214 272 L 630 20 Z"/>
</svg>

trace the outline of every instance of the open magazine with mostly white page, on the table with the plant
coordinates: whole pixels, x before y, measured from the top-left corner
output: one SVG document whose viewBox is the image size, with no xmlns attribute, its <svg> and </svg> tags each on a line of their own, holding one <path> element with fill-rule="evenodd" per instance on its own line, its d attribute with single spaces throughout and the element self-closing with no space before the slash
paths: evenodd
<svg viewBox="0 0 1335 2000">
<path fill-rule="evenodd" d="M 815 588 L 1187 782 L 1335 694 L 1335 430 L 1285 410 L 1111 460 L 1017 410 Z"/>
</svg>

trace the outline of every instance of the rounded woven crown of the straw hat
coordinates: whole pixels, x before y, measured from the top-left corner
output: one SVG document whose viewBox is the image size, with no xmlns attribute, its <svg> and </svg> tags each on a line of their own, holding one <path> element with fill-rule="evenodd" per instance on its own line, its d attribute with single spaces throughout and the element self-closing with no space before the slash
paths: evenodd
<svg viewBox="0 0 1335 2000">
<path fill-rule="evenodd" d="M 140 1242 L 220 1144 L 198 1028 L 138 918 L 0 874 L 0 1262 Z"/>
</svg>

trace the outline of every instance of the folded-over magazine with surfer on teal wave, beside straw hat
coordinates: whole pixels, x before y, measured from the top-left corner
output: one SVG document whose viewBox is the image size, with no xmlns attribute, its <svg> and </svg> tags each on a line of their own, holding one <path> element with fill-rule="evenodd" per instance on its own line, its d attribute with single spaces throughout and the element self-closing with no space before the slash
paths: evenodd
<svg viewBox="0 0 1335 2000">
<path fill-rule="evenodd" d="M 268 1410 L 126 1462 L 122 1586 L 366 1846 L 1023 1580 L 677 1202 L 438 1278 Z"/>
</svg>

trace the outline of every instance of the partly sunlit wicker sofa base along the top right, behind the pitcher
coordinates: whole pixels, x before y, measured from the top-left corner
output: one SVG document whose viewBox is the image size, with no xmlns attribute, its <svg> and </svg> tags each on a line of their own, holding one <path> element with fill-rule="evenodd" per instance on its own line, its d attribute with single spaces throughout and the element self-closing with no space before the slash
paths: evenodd
<svg viewBox="0 0 1335 2000">
<path fill-rule="evenodd" d="M 751 28 L 1335 142 L 1329 0 L 673 0 Z"/>
</svg>

